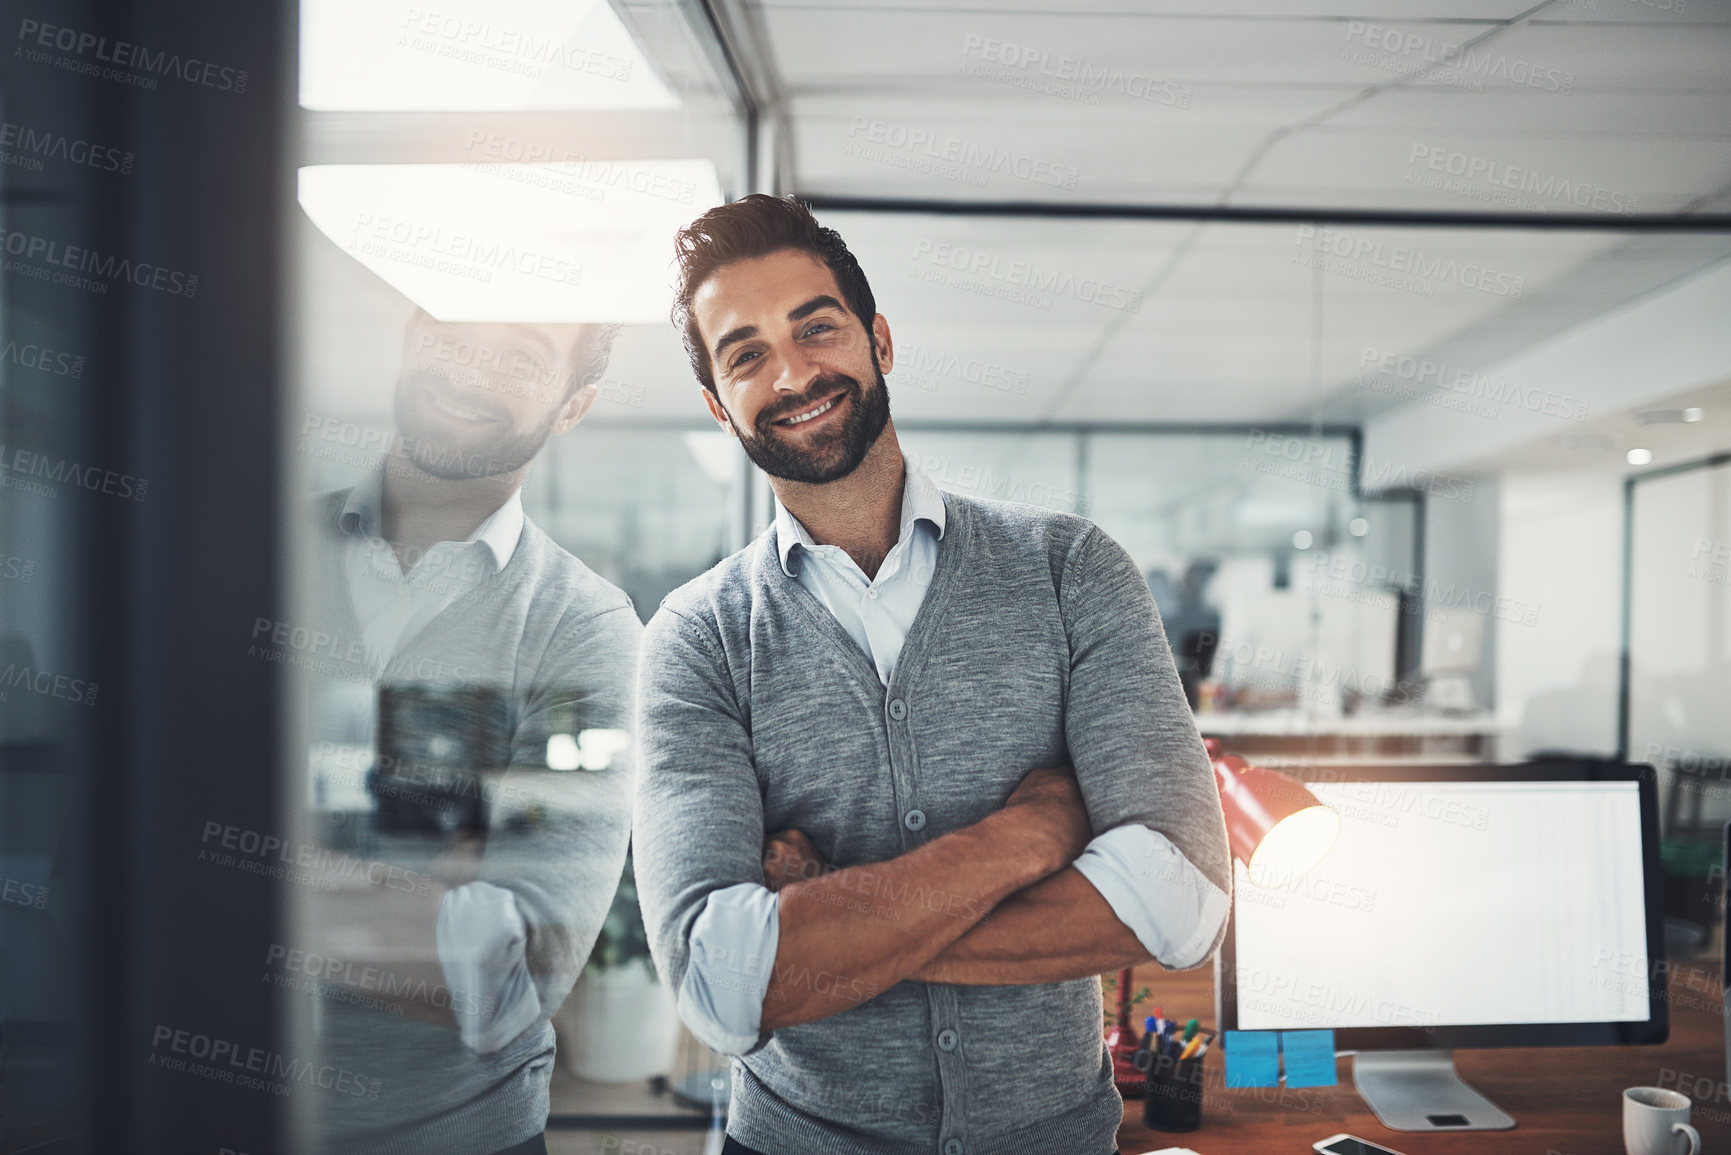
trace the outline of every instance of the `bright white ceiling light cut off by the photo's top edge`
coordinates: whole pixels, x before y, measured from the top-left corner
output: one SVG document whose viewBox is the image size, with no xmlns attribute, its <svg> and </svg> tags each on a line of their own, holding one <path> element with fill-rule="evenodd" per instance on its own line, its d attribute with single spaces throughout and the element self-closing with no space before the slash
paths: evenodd
<svg viewBox="0 0 1731 1155">
<path fill-rule="evenodd" d="M 677 109 L 606 0 L 301 0 L 301 106 Z"/>
</svg>

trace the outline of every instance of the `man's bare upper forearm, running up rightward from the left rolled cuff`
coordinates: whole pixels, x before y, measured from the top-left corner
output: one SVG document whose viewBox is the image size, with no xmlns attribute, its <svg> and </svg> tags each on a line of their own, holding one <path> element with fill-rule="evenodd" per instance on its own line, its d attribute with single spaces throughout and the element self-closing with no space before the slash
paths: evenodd
<svg viewBox="0 0 1731 1155">
<path fill-rule="evenodd" d="M 1025 831 L 999 810 L 888 862 L 782 887 L 762 1029 L 859 1006 L 930 963 L 1002 899 L 1058 869 L 1051 849 Z"/>
</svg>

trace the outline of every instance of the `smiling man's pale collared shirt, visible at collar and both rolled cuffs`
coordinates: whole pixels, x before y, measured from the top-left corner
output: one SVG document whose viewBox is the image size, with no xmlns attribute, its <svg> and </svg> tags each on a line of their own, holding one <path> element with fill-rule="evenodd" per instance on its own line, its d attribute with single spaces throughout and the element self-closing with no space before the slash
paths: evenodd
<svg viewBox="0 0 1731 1155">
<path fill-rule="evenodd" d="M 819 545 L 775 502 L 782 573 L 829 608 L 885 686 L 931 587 L 943 539 L 943 494 L 912 457 L 904 455 L 904 462 L 902 532 L 872 578 L 841 547 Z M 1141 823 L 1099 835 L 1073 866 L 1142 947 L 1174 970 L 1196 966 L 1226 921 L 1226 892 L 1165 835 Z M 703 1044 L 746 1055 L 765 1041 L 763 996 L 779 942 L 779 900 L 767 887 L 736 883 L 705 900 L 691 926 L 691 965 L 679 989 L 680 1018 Z"/>
</svg>

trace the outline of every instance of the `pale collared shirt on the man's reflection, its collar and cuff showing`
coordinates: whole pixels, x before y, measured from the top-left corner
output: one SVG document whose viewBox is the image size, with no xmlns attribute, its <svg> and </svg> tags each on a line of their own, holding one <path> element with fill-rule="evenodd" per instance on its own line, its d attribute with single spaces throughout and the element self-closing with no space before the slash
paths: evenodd
<svg viewBox="0 0 1731 1155">
<path fill-rule="evenodd" d="M 379 532 L 384 469 L 374 469 L 348 494 L 338 514 L 344 535 L 343 571 L 367 653 L 384 665 L 466 590 L 511 565 L 523 539 L 523 494 L 514 490 L 460 542 L 436 542 L 405 573 Z M 377 698 L 370 700 L 377 710 Z M 369 719 L 374 732 L 377 719 Z M 516 895 L 473 881 L 445 892 L 434 928 L 440 970 L 450 990 L 481 997 L 452 999 L 464 1044 L 479 1055 L 523 1034 L 542 1011 L 528 968 L 528 930 Z"/>
</svg>

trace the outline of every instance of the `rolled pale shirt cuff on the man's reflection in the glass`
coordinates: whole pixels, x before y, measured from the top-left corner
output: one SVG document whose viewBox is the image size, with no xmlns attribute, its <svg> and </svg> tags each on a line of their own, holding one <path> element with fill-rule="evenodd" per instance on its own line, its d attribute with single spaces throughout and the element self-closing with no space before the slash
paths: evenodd
<svg viewBox="0 0 1731 1155">
<path fill-rule="evenodd" d="M 464 1044 L 492 1055 L 540 1018 L 528 925 L 504 887 L 473 881 L 438 904 L 438 963 Z"/>
</svg>

